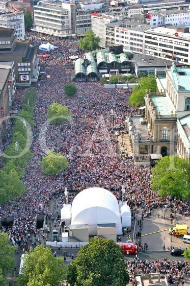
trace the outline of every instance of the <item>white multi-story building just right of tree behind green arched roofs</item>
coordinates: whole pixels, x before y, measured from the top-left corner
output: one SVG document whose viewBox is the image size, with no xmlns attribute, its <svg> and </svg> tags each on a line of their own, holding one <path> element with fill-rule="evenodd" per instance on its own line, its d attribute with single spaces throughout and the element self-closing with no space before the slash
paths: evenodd
<svg viewBox="0 0 190 286">
<path fill-rule="evenodd" d="M 92 13 L 92 31 L 100 38 L 100 46 L 106 46 L 106 25 L 115 22 L 120 18 L 110 15 L 100 15 Z"/>
</svg>

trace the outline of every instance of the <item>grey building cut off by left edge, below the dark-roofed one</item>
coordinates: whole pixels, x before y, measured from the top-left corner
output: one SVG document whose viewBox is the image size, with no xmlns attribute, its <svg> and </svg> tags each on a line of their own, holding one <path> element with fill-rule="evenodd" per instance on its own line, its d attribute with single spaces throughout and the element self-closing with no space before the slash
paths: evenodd
<svg viewBox="0 0 190 286">
<path fill-rule="evenodd" d="M 0 144 L 8 128 L 10 118 L 8 117 L 15 93 L 15 76 L 13 62 L 0 62 Z"/>
</svg>

